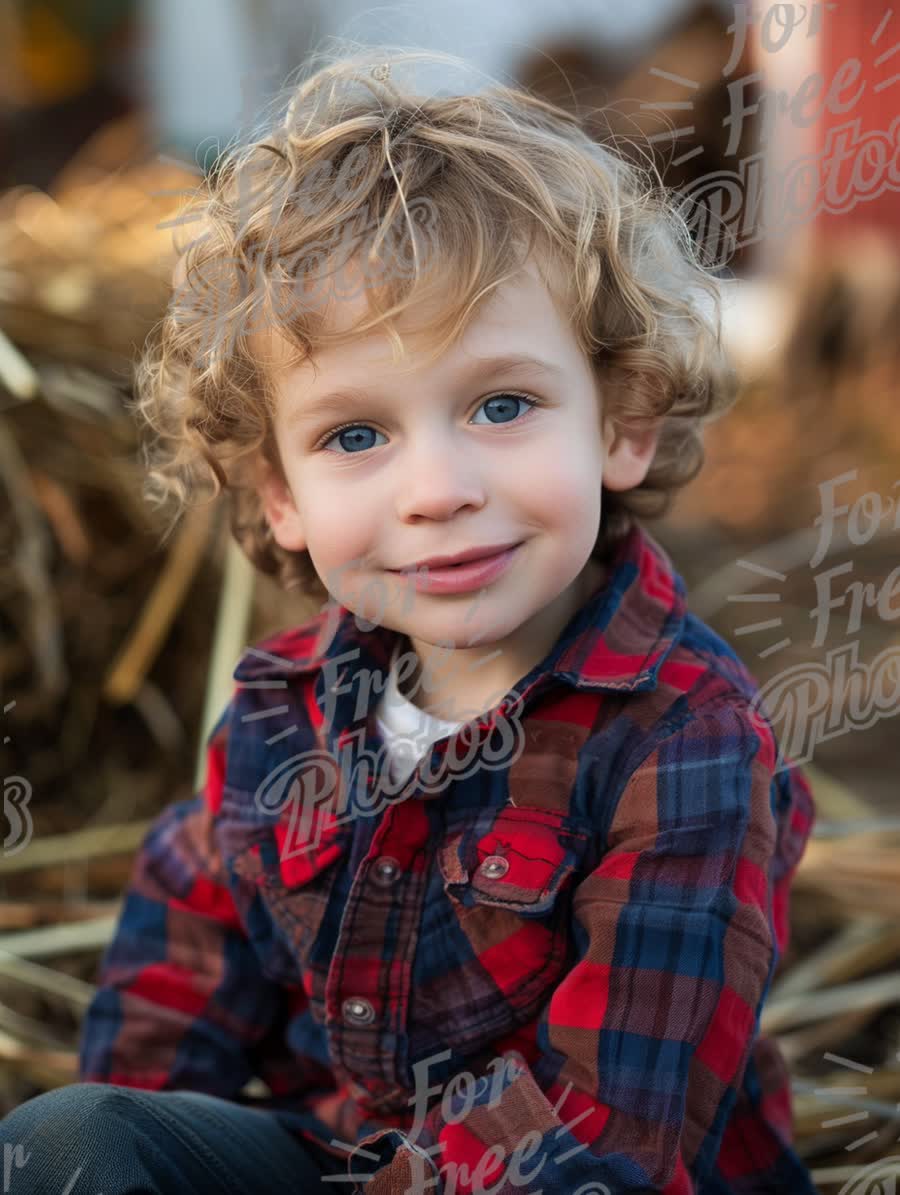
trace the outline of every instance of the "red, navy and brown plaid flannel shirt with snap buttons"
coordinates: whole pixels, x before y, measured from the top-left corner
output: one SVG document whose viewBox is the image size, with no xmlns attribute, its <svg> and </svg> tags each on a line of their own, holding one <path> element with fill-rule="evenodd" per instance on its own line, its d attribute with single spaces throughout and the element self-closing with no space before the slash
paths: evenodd
<svg viewBox="0 0 900 1195">
<path fill-rule="evenodd" d="M 137 852 L 82 1081 L 257 1076 L 367 1195 L 815 1195 L 759 1032 L 813 799 L 661 545 L 633 526 L 388 792 L 396 641 L 333 605 L 244 652 L 202 791 Z"/>
</svg>

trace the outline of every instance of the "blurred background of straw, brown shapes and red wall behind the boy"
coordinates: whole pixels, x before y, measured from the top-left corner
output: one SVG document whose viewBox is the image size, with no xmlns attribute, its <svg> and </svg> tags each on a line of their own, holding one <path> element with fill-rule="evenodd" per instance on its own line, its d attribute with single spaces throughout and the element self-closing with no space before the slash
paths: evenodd
<svg viewBox="0 0 900 1195">
<path fill-rule="evenodd" d="M 124 402 L 179 204 L 330 35 L 447 50 L 577 108 L 684 196 L 741 394 L 648 527 L 777 713 L 832 710 L 791 750 L 819 821 L 763 1028 L 820 1189 L 888 1175 L 900 10 L 884 0 L 0 0 L 0 1115 L 74 1080 L 137 842 L 197 784 L 243 646 L 314 612 L 251 575 L 220 508 L 160 546 Z"/>
</svg>

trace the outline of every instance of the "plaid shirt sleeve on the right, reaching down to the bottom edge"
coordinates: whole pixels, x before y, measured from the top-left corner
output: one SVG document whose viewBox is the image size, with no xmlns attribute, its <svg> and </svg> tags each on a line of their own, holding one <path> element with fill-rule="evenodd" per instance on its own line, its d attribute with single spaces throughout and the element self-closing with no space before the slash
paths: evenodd
<svg viewBox="0 0 900 1195">
<path fill-rule="evenodd" d="M 415 1141 L 390 1130 L 367 1195 L 702 1189 L 778 962 L 776 752 L 767 723 L 722 703 L 626 768 L 529 1056 L 437 1099 Z"/>
</svg>

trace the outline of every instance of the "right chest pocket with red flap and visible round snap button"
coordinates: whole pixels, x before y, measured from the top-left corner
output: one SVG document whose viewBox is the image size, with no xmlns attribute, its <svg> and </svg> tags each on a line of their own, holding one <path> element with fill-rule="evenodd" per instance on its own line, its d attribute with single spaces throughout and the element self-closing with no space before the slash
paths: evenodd
<svg viewBox="0 0 900 1195">
<path fill-rule="evenodd" d="M 546 809 L 448 827 L 437 848 L 446 972 L 420 1005 L 448 1043 L 477 1049 L 550 998 L 573 957 L 571 893 L 588 842 L 587 828 Z"/>
</svg>

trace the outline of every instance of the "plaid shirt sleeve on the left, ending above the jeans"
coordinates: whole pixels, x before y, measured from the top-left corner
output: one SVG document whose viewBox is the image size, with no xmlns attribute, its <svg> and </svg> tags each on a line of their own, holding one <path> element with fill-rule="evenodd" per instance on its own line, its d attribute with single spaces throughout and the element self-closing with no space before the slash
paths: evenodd
<svg viewBox="0 0 900 1195">
<path fill-rule="evenodd" d="M 139 847 L 81 1024 L 81 1081 L 234 1098 L 284 1013 L 216 847 L 229 711 L 207 741 L 203 790 L 169 805 Z"/>
</svg>

